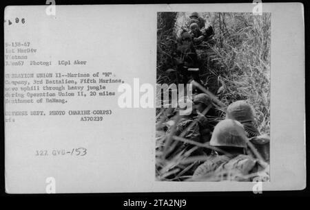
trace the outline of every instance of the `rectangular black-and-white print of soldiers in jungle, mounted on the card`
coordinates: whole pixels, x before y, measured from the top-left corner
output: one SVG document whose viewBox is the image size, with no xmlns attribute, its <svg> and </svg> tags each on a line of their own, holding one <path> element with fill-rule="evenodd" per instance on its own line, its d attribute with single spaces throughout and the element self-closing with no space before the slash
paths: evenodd
<svg viewBox="0 0 310 210">
<path fill-rule="evenodd" d="M 269 181 L 271 13 L 158 12 L 156 56 L 156 180 Z"/>
</svg>

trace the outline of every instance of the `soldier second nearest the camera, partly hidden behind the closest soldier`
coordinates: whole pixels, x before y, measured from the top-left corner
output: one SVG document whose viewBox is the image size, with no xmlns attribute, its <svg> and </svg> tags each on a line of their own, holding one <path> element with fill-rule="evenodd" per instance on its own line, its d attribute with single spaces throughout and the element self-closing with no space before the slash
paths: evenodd
<svg viewBox="0 0 310 210">
<path fill-rule="evenodd" d="M 270 139 L 267 135 L 260 135 L 260 132 L 256 128 L 254 108 L 244 100 L 233 102 L 227 107 L 226 119 L 240 121 L 247 132 L 250 142 L 254 144 L 254 147 L 262 155 L 262 158 L 268 162 Z M 249 150 L 248 153 L 250 154 L 251 151 Z"/>
</svg>

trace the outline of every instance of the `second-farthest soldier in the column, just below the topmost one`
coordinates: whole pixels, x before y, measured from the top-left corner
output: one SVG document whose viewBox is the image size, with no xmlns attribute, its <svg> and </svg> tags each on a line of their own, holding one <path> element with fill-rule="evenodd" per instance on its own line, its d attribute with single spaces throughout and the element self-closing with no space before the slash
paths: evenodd
<svg viewBox="0 0 310 210">
<path fill-rule="evenodd" d="M 197 22 L 192 22 L 191 25 L 189 25 L 189 32 L 192 35 L 194 45 L 209 42 L 214 35 L 214 30 L 211 25 L 208 25 L 207 28 L 200 30 Z"/>
</svg>

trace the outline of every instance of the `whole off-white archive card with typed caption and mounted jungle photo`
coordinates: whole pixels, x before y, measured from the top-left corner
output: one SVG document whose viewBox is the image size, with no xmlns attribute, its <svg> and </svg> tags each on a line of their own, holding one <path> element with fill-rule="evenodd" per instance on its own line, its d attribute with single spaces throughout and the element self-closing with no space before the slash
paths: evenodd
<svg viewBox="0 0 310 210">
<path fill-rule="evenodd" d="M 302 3 L 56 1 L 3 18 L 6 194 L 180 208 L 183 192 L 307 187 Z"/>
</svg>

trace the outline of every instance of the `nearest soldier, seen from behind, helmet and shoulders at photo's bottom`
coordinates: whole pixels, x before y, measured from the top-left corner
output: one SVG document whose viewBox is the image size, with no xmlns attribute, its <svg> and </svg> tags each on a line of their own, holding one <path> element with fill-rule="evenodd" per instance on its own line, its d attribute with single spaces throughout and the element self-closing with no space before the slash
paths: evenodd
<svg viewBox="0 0 310 210">
<path fill-rule="evenodd" d="M 254 177 L 269 180 L 269 165 L 245 153 L 247 135 L 240 122 L 220 121 L 214 128 L 210 145 L 219 151 L 195 170 L 192 180 L 251 181 Z"/>
</svg>

